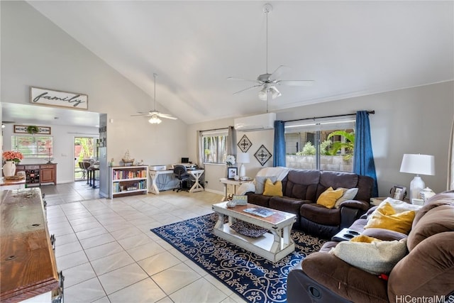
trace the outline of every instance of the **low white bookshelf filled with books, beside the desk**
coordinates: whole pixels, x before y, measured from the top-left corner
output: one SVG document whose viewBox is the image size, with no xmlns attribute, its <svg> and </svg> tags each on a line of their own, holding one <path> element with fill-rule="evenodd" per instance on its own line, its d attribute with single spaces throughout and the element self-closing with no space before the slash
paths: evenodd
<svg viewBox="0 0 454 303">
<path fill-rule="evenodd" d="M 148 192 L 148 166 L 110 167 L 109 197 L 125 197 Z"/>
</svg>

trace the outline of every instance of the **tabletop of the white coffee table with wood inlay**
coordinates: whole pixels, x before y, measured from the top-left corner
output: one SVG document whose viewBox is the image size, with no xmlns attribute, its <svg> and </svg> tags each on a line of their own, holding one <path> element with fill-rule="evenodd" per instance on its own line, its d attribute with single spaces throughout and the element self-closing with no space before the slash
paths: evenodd
<svg viewBox="0 0 454 303">
<path fill-rule="evenodd" d="M 267 216 L 267 217 L 263 218 L 261 216 L 256 216 L 255 214 L 249 214 L 244 211 L 245 209 L 250 209 L 253 207 L 268 209 L 270 211 L 273 211 L 275 214 L 272 214 L 271 216 Z M 246 216 L 246 217 L 253 218 L 253 219 L 256 219 L 259 221 L 265 221 L 268 224 L 272 224 L 272 225 L 279 225 L 288 220 L 293 220 L 296 217 L 294 214 L 289 214 L 285 211 L 278 211 L 277 209 L 269 209 L 267 207 L 258 206 L 255 204 L 249 204 L 249 203 L 246 205 L 237 205 L 235 207 L 227 207 L 227 202 L 221 202 L 221 203 L 213 204 L 213 209 L 214 209 L 214 211 L 220 212 L 221 214 L 228 215 L 228 213 L 236 213 L 240 217 Z"/>
</svg>

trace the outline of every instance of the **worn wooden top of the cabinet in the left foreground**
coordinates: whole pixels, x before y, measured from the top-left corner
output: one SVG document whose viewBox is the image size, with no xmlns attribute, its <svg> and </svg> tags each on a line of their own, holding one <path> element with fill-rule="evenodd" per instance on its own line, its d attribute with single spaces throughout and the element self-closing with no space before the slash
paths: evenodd
<svg viewBox="0 0 454 303">
<path fill-rule="evenodd" d="M 2 192 L 0 216 L 0 302 L 56 289 L 57 265 L 40 189 Z"/>
</svg>

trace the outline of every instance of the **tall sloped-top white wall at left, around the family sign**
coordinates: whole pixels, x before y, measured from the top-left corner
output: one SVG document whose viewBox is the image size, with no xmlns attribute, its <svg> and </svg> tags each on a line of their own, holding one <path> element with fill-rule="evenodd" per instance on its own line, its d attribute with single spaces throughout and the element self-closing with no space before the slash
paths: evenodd
<svg viewBox="0 0 454 303">
<path fill-rule="evenodd" d="M 89 96 L 89 111 L 114 119 L 107 125 L 107 159 L 118 163 L 129 150 L 131 158 L 157 165 L 179 162 L 187 155 L 185 123 L 163 119 L 153 126 L 143 117 L 131 117 L 149 110 L 148 94 L 26 2 L 0 5 L 1 102 L 28 104 L 30 86 L 81 92 Z M 150 66 L 150 81 L 153 72 Z M 157 109 L 165 111 L 160 104 Z M 61 136 L 55 133 L 55 144 L 72 140 L 64 131 Z M 60 171 L 57 182 L 67 181 Z"/>
</svg>

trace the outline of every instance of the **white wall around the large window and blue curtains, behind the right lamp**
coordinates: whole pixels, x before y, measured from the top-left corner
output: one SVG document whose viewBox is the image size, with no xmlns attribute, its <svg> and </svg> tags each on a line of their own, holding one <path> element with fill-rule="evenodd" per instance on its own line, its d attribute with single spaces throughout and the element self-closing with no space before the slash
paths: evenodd
<svg viewBox="0 0 454 303">
<path fill-rule="evenodd" d="M 278 102 L 275 99 L 273 102 Z M 421 176 L 426 186 L 435 192 L 446 189 L 448 173 L 448 143 L 454 117 L 454 82 L 431 84 L 411 89 L 400 89 L 370 96 L 301 106 L 277 112 L 278 120 L 304 119 L 314 116 L 331 116 L 355 113 L 358 110 L 375 110 L 370 115 L 372 147 L 379 195 L 386 196 L 394 184 L 409 187 L 414 175 L 399 172 L 404 153 L 421 153 L 435 156 L 436 175 Z M 188 136 L 196 130 L 233 125 L 233 119 L 199 123 L 188 129 Z M 260 165 L 253 153 L 260 144 L 272 151 L 273 131 L 246 133 L 253 142 L 252 161 L 247 165 L 248 175 L 254 175 Z M 242 133 L 237 133 L 237 141 Z M 196 139 L 189 141 L 191 156 L 196 157 Z M 272 159 L 265 166 L 272 166 Z M 222 177 L 222 176 L 218 176 Z M 211 184 L 208 184 L 211 188 Z"/>
</svg>

